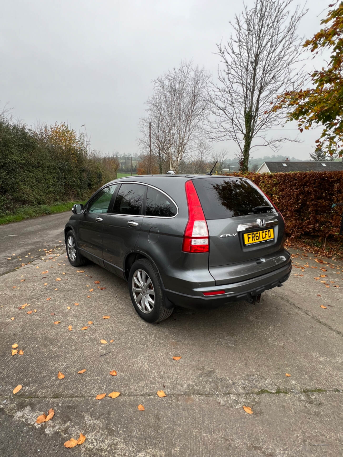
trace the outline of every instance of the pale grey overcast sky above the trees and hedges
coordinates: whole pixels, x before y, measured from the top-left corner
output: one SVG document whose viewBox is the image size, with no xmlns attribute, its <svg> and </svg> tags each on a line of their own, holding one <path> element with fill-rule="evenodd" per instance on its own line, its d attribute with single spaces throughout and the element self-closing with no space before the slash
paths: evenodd
<svg viewBox="0 0 343 457">
<path fill-rule="evenodd" d="M 309 38 L 320 29 L 328 3 L 308 2 L 300 35 Z M 3 1 L 1 106 L 9 102 L 29 125 L 65 121 L 79 131 L 85 124 L 92 147 L 103 154 L 138 153 L 138 122 L 151 80 L 184 58 L 215 76 L 216 43 L 229 37 L 229 21 L 242 5 L 241 0 Z M 310 56 L 309 71 L 313 65 Z M 295 138 L 295 126 L 285 128 Z M 304 143 L 286 143 L 280 154 L 307 159 L 319 134 L 300 134 Z M 234 144 L 214 144 L 216 150 L 224 147 L 233 158 Z M 267 154 L 272 151 L 260 149 L 252 156 Z"/>
</svg>

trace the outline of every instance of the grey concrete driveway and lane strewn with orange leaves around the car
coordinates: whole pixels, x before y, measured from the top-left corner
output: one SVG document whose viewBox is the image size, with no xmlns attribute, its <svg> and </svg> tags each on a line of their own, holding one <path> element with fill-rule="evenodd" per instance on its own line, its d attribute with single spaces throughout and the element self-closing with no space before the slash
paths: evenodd
<svg viewBox="0 0 343 457">
<path fill-rule="evenodd" d="M 123 280 L 69 265 L 69 214 L 0 227 L 3 272 L 34 257 L 0 277 L 1 456 L 343 454 L 343 263 L 292 251 L 289 281 L 260 304 L 147 324 Z"/>
</svg>

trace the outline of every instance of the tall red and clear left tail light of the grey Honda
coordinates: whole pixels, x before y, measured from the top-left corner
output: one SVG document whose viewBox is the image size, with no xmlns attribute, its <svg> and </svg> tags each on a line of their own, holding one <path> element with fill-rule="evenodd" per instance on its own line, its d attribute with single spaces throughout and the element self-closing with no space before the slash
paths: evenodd
<svg viewBox="0 0 343 457">
<path fill-rule="evenodd" d="M 203 208 L 191 180 L 186 181 L 185 190 L 188 204 L 188 223 L 183 235 L 182 251 L 209 252 L 209 231 Z"/>
</svg>

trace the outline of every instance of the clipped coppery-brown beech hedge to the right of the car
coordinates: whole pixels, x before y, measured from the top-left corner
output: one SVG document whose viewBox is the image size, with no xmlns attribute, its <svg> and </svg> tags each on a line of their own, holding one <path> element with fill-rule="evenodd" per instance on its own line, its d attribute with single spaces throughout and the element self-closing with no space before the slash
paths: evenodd
<svg viewBox="0 0 343 457">
<path fill-rule="evenodd" d="M 343 202 L 343 171 L 229 175 L 250 179 L 268 195 L 284 216 L 288 236 L 339 234 L 343 207 L 332 204 Z"/>
</svg>

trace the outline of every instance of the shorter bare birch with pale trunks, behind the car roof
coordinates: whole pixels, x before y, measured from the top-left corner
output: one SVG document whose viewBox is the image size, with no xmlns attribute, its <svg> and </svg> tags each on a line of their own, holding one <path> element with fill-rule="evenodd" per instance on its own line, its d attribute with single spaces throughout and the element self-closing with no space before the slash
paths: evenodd
<svg viewBox="0 0 343 457">
<path fill-rule="evenodd" d="M 151 122 L 154 154 L 160 164 L 167 160 L 170 169 L 177 172 L 183 156 L 194 150 L 204 133 L 209 115 L 209 74 L 192 66 L 192 62 L 182 61 L 179 68 L 153 83 L 153 94 L 146 102 L 147 116 L 141 120 L 143 135 L 139 143 L 146 145 L 146 125 Z"/>
</svg>

